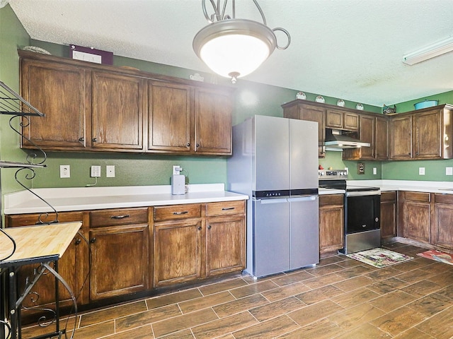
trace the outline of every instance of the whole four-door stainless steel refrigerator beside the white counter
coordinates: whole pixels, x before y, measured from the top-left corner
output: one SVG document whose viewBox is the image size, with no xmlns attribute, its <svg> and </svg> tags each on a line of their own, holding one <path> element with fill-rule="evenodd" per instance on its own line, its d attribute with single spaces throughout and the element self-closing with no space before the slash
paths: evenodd
<svg viewBox="0 0 453 339">
<path fill-rule="evenodd" d="M 247 273 L 319 263 L 318 123 L 256 115 L 233 127 L 229 191 L 248 194 Z"/>
</svg>

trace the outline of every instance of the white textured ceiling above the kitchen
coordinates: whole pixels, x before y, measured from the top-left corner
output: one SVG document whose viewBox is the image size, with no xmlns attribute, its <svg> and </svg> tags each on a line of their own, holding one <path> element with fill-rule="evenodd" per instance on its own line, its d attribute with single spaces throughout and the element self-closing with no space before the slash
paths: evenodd
<svg viewBox="0 0 453 339">
<path fill-rule="evenodd" d="M 221 1 L 223 3 L 223 1 Z M 210 1 L 206 1 L 209 6 Z M 231 3 L 231 0 L 228 4 Z M 78 44 L 208 71 L 192 49 L 207 25 L 201 0 L 11 0 L 35 40 Z M 403 54 L 453 36 L 453 0 L 260 0 L 270 28 L 289 31 L 249 81 L 369 105 L 453 90 L 453 52 L 414 66 Z M 209 8 L 209 7 L 208 7 Z M 236 18 L 260 21 L 251 0 Z M 280 45 L 285 35 L 277 35 Z"/>
</svg>

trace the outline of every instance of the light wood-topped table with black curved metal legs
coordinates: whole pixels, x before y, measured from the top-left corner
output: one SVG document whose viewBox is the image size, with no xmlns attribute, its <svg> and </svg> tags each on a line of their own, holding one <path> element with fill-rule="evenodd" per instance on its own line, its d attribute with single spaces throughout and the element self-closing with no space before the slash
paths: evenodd
<svg viewBox="0 0 453 339">
<path fill-rule="evenodd" d="M 30 263 L 40 263 L 43 267 L 47 266 L 47 270 L 52 272 L 49 264 L 55 262 L 55 273 L 58 272 L 57 261 L 62 257 L 72 239 L 79 231 L 81 222 L 66 222 L 50 225 L 33 225 L 25 227 L 11 227 L 4 229 L 10 237 L 16 242 L 16 251 L 10 256 L 13 251 L 13 244 L 5 234 L 0 232 L 0 319 L 10 319 L 11 322 L 11 338 L 21 338 L 20 314 L 21 303 L 23 297 L 35 285 L 36 281 L 42 275 L 38 274 L 35 279 L 28 285 L 25 291 L 18 293 L 16 270 L 23 265 Z M 8 257 L 10 256 L 10 257 Z M 8 258 L 6 258 L 8 257 Z M 6 259 L 4 259 L 6 258 Z M 7 274 L 5 274 L 7 273 Z M 5 284 L 4 277 L 8 278 L 8 284 Z M 56 300 L 56 313 L 57 313 L 57 331 L 51 333 L 47 338 L 59 335 L 59 314 L 58 314 L 58 280 L 61 280 L 59 275 L 55 278 L 55 300 Z M 66 284 L 64 280 L 62 283 Z M 5 292 L 3 291 L 5 289 Z M 8 295 L 8 306 L 6 307 L 6 294 Z M 17 334 L 18 332 L 18 334 Z M 4 325 L 0 326 L 0 338 L 4 338 Z M 46 337 L 40 337 L 46 338 Z"/>
</svg>

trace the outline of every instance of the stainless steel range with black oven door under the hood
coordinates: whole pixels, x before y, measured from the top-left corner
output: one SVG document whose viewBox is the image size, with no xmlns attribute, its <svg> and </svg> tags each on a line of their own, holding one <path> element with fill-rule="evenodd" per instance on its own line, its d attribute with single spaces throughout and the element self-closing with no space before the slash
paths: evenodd
<svg viewBox="0 0 453 339">
<path fill-rule="evenodd" d="M 319 187 L 343 189 L 345 193 L 345 246 L 340 250 L 350 254 L 381 246 L 379 187 L 348 184 L 345 169 L 319 169 Z"/>
</svg>

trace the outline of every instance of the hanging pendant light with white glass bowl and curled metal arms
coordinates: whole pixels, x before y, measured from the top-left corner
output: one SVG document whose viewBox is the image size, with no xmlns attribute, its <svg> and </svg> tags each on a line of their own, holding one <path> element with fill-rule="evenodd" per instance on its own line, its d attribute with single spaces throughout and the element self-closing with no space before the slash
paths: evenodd
<svg viewBox="0 0 453 339">
<path fill-rule="evenodd" d="M 203 13 L 209 25 L 195 35 L 193 50 L 212 71 L 231 78 L 232 83 L 258 69 L 275 48 L 288 48 L 291 42 L 289 32 L 283 28 L 268 28 L 264 13 L 256 0 L 253 3 L 258 8 L 263 23 L 236 19 L 235 0 L 231 1 L 231 16 L 225 13 L 228 0 L 224 0 L 222 10 L 220 0 L 217 0 L 217 4 L 214 0 L 210 0 L 210 3 L 214 9 L 211 16 L 207 13 L 206 0 L 202 0 Z M 276 30 L 287 35 L 285 47 L 278 46 L 274 33 Z"/>
</svg>

